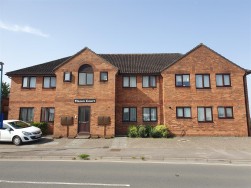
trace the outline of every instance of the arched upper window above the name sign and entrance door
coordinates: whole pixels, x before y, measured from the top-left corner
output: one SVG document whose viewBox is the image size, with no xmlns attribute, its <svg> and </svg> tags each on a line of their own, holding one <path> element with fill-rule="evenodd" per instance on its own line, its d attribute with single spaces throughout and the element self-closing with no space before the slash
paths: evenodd
<svg viewBox="0 0 251 188">
<path fill-rule="evenodd" d="M 78 70 L 78 85 L 93 85 L 93 69 L 90 65 L 82 65 Z"/>
</svg>

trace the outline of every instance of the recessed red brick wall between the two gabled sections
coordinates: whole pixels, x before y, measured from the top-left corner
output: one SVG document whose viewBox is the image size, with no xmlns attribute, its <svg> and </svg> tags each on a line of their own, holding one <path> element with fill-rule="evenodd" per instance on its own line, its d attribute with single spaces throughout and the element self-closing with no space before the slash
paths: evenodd
<svg viewBox="0 0 251 188">
<path fill-rule="evenodd" d="M 156 88 L 143 88 L 142 75 L 137 75 L 137 88 L 123 88 L 123 75 L 116 79 L 116 135 L 126 135 L 130 125 L 157 125 L 163 123 L 162 77 L 156 77 Z M 137 107 L 137 122 L 123 122 L 122 108 Z M 143 122 L 143 107 L 157 107 L 157 122 Z"/>
</svg>

